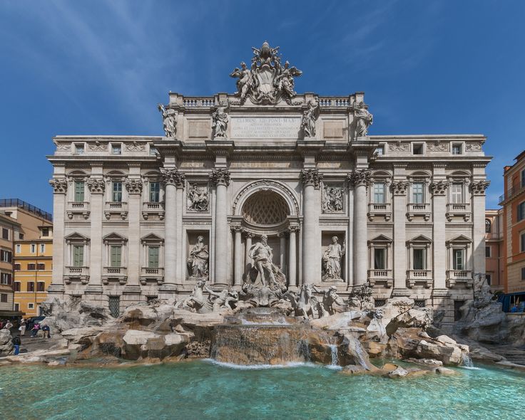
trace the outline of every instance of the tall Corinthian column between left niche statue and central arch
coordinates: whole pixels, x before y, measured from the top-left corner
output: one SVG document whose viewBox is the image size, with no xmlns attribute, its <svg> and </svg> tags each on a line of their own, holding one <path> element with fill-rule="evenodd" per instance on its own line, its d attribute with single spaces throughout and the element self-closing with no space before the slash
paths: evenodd
<svg viewBox="0 0 525 420">
<path fill-rule="evenodd" d="M 230 248 L 228 241 L 228 185 L 230 172 L 228 169 L 214 169 L 210 174 L 212 184 L 215 184 L 215 244 L 213 258 L 215 264 L 215 283 L 228 285 L 228 266 Z"/>
</svg>

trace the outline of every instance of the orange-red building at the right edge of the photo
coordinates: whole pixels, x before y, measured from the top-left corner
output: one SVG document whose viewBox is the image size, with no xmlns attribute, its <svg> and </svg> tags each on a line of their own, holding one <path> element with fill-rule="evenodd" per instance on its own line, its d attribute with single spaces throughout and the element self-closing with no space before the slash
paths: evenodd
<svg viewBox="0 0 525 420">
<path fill-rule="evenodd" d="M 499 200 L 503 207 L 504 307 L 509 298 L 525 299 L 525 150 L 515 160 L 504 168 L 505 194 Z"/>
</svg>

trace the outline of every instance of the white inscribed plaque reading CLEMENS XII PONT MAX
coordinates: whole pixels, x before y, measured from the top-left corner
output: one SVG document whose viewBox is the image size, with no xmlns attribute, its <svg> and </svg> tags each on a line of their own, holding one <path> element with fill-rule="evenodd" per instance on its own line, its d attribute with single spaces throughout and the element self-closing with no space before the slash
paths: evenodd
<svg viewBox="0 0 525 420">
<path fill-rule="evenodd" d="M 294 117 L 233 117 L 232 139 L 293 139 L 299 137 L 300 118 Z"/>
</svg>

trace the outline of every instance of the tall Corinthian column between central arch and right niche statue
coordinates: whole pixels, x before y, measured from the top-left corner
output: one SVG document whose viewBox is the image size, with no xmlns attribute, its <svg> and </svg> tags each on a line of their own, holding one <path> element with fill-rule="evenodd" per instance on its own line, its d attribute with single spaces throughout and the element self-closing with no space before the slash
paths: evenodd
<svg viewBox="0 0 525 420">
<path fill-rule="evenodd" d="M 302 283 L 316 283 L 321 278 L 321 241 L 319 230 L 322 174 L 317 169 L 303 169 L 302 179 Z"/>
</svg>

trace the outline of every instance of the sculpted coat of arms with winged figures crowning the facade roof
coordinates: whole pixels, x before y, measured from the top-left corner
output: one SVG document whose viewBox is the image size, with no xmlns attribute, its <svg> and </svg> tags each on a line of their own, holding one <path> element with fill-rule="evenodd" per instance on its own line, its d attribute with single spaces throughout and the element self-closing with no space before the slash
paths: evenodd
<svg viewBox="0 0 525 420">
<path fill-rule="evenodd" d="M 235 95 L 240 98 L 240 103 L 250 98 L 255 104 L 275 104 L 285 100 L 292 105 L 292 98 L 297 95 L 294 77 L 299 77 L 302 71 L 290 67 L 287 61 L 282 65 L 277 55 L 279 47 L 272 48 L 265 42 L 261 48 L 252 47 L 252 50 L 251 68 L 240 63 L 240 68 L 235 68 L 230 74 L 238 79 Z"/>
</svg>

